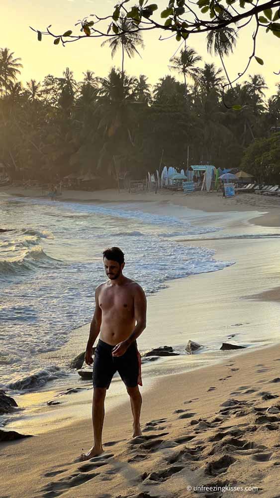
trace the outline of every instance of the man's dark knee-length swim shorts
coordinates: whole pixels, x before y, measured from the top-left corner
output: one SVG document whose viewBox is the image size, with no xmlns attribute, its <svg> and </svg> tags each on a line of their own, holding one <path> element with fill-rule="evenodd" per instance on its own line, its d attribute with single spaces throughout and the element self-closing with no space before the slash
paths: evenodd
<svg viewBox="0 0 280 498">
<path fill-rule="evenodd" d="M 112 356 L 114 347 L 99 339 L 94 353 L 93 386 L 108 389 L 116 372 L 127 387 L 142 385 L 141 356 L 136 341 L 130 344 L 122 356 Z"/>
</svg>

